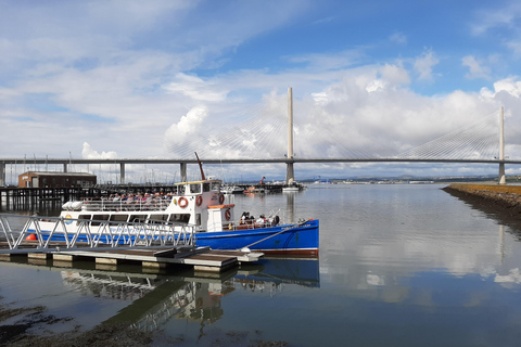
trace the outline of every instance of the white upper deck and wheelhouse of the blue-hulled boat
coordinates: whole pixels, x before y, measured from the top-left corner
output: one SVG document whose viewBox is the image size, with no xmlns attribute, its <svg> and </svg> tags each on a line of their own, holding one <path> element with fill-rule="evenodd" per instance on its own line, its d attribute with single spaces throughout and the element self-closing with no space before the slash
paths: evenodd
<svg viewBox="0 0 521 347">
<path fill-rule="evenodd" d="M 189 223 L 199 232 L 232 229 L 233 204 L 225 204 L 220 180 L 181 182 L 168 194 L 129 194 L 100 201 L 68 202 L 61 217 L 100 221 Z"/>
</svg>

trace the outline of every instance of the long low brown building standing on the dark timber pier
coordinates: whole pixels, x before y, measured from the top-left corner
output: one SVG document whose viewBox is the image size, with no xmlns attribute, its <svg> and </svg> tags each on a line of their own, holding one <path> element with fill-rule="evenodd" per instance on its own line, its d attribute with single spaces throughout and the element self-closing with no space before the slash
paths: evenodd
<svg viewBox="0 0 521 347">
<path fill-rule="evenodd" d="M 24 172 L 18 176 L 20 188 L 91 187 L 97 177 L 87 172 Z"/>
</svg>

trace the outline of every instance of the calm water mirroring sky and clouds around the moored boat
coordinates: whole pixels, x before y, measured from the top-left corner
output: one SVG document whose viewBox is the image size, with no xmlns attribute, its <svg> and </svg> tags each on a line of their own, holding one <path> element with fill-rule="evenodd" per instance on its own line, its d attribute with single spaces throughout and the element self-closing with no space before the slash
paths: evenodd
<svg viewBox="0 0 521 347">
<path fill-rule="evenodd" d="M 74 318 L 42 330 L 124 318 L 176 346 L 519 346 L 519 230 L 441 188 L 236 196 L 238 215 L 280 207 L 285 220 L 319 219 L 320 259 L 267 259 L 205 279 L 0 262 L 0 305 Z"/>
</svg>

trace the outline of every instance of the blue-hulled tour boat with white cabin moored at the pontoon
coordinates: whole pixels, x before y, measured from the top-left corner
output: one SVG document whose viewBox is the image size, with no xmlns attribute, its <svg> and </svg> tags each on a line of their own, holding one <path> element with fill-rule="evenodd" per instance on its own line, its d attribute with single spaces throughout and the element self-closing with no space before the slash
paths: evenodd
<svg viewBox="0 0 521 347">
<path fill-rule="evenodd" d="M 253 219 L 247 213 L 236 219 L 234 204 L 225 203 L 220 189 L 220 180 L 203 176 L 201 181 L 175 184 L 168 194 L 68 202 L 63 205 L 60 217 L 68 223 L 68 233 L 74 233 L 79 221 L 88 222 L 89 232 L 94 234 L 102 221 L 153 223 L 154 227 L 188 224 L 194 226 L 192 233 L 196 246 L 247 248 L 266 254 L 318 254 L 318 220 L 283 223 L 279 216 L 260 215 Z M 42 222 L 42 231 L 45 227 Z"/>
</svg>

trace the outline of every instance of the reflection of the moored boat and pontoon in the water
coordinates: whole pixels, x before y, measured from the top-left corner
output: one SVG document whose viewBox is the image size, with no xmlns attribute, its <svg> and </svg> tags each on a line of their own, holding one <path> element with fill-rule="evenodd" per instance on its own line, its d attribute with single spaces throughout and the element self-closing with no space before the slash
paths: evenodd
<svg viewBox="0 0 521 347">
<path fill-rule="evenodd" d="M 128 322 L 142 331 L 157 330 L 171 318 L 200 321 L 201 326 L 212 324 L 225 314 L 221 298 L 234 291 L 275 296 L 285 284 L 320 286 L 316 258 L 270 258 L 217 277 L 200 275 L 62 271 L 64 284 L 84 295 L 130 301 L 105 322 Z"/>
</svg>

